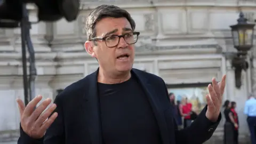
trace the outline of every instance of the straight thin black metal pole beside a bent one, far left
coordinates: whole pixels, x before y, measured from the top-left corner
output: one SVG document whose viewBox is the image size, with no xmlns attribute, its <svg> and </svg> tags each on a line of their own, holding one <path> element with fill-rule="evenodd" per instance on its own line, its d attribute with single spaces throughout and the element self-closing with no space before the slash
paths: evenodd
<svg viewBox="0 0 256 144">
<path fill-rule="evenodd" d="M 22 4 L 22 20 L 21 26 L 21 49 L 22 49 L 22 68 L 23 68 L 23 90 L 24 90 L 24 101 L 25 105 L 28 105 L 28 77 L 27 77 L 27 58 L 26 58 L 26 25 L 27 21 L 25 19 L 26 14 L 26 4 Z"/>
</svg>

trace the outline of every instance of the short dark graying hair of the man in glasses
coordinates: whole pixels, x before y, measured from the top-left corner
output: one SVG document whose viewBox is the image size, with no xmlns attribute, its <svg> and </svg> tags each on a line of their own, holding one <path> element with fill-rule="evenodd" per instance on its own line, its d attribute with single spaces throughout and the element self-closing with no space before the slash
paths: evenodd
<svg viewBox="0 0 256 144">
<path fill-rule="evenodd" d="M 132 19 L 129 12 L 124 9 L 121 9 L 115 5 L 100 5 L 93 9 L 86 18 L 85 30 L 87 33 L 87 38 L 91 39 L 96 36 L 95 25 L 98 21 L 103 18 L 126 18 L 132 27 L 132 30 L 135 29 L 135 22 Z"/>
</svg>

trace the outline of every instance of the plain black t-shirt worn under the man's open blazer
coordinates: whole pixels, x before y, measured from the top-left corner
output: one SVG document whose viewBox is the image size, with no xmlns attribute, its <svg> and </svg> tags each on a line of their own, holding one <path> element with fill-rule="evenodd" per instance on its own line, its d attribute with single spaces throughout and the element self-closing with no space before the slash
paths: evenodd
<svg viewBox="0 0 256 144">
<path fill-rule="evenodd" d="M 102 137 L 105 144 L 160 144 L 153 110 L 137 79 L 98 83 Z"/>
</svg>

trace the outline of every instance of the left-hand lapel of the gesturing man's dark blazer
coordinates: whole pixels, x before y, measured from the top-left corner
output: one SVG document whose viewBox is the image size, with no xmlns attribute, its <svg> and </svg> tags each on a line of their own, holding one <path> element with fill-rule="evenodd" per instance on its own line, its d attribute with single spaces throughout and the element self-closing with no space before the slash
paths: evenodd
<svg viewBox="0 0 256 144">
<path fill-rule="evenodd" d="M 97 89 L 98 71 L 99 69 L 87 76 L 88 84 L 85 87 L 86 91 L 84 93 L 84 101 L 82 102 L 85 121 L 89 128 L 92 144 L 102 144 L 100 106 Z"/>
</svg>

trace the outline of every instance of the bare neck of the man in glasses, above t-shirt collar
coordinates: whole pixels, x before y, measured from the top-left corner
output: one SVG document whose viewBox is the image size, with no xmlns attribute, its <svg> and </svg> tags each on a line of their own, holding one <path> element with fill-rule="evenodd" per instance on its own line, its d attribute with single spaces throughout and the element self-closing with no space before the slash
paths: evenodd
<svg viewBox="0 0 256 144">
<path fill-rule="evenodd" d="M 115 75 L 114 73 L 107 73 L 103 69 L 99 69 L 98 82 L 103 84 L 117 84 L 127 81 L 131 78 L 131 72 Z"/>
</svg>

